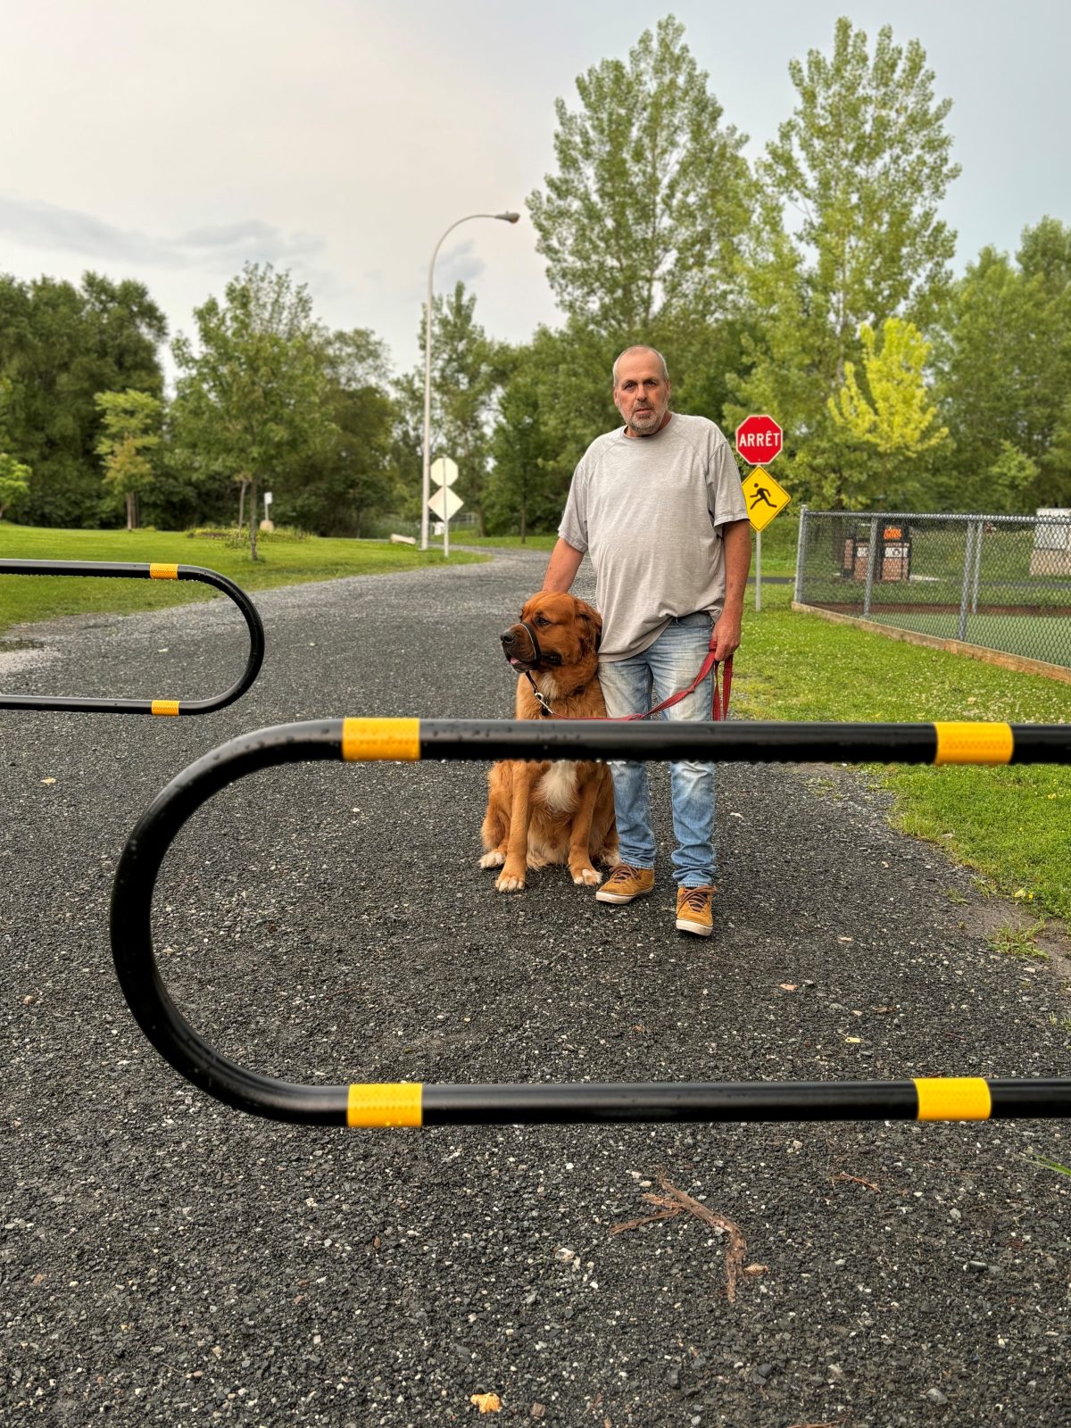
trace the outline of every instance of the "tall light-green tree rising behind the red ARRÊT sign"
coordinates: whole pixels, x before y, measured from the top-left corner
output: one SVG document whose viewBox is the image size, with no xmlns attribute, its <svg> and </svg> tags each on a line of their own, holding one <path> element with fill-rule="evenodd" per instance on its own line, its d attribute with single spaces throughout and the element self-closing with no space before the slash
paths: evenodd
<svg viewBox="0 0 1071 1428">
<path fill-rule="evenodd" d="M 797 106 L 758 166 L 768 201 L 745 253 L 750 323 L 727 414 L 773 411 L 800 494 L 841 506 L 858 451 L 828 403 L 858 334 L 890 317 L 925 330 L 948 287 L 955 234 L 937 213 L 958 174 L 951 106 L 934 99 L 918 41 L 895 46 L 888 26 L 871 56 L 841 19 L 833 54 L 811 50 L 788 71 Z M 784 208 L 800 216 L 794 231 Z"/>
</svg>

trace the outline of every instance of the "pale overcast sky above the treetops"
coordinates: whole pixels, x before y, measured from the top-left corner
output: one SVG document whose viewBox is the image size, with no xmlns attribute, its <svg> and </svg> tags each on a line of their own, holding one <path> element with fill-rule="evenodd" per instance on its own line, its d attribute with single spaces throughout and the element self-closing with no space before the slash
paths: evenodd
<svg viewBox="0 0 1071 1428">
<path fill-rule="evenodd" d="M 171 333 L 247 258 L 287 266 L 320 317 L 371 327 L 398 368 L 427 267 L 468 213 L 518 208 L 553 170 L 554 100 L 673 10 L 757 157 L 788 61 L 838 14 L 918 39 L 954 101 L 957 267 L 1071 221 L 1068 40 L 1057 0 L 0 0 L 0 271 L 141 278 Z M 531 224 L 467 223 L 436 266 L 521 341 L 555 308 Z"/>
</svg>

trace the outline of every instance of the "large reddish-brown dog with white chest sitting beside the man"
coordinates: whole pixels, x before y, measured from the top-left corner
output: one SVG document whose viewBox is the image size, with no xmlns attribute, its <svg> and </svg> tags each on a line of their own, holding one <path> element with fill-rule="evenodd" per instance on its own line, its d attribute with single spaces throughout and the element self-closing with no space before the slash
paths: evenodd
<svg viewBox="0 0 1071 1428">
<path fill-rule="evenodd" d="M 518 671 L 516 718 L 545 718 L 531 684 L 561 718 L 605 718 L 598 684 L 603 617 L 575 595 L 541 591 L 521 610 L 501 644 Z M 567 863 L 577 885 L 597 887 L 594 867 L 618 861 L 614 785 L 605 764 L 574 760 L 504 760 L 487 775 L 480 837 L 481 868 L 501 868 L 496 887 L 518 892 L 527 868 Z"/>
</svg>

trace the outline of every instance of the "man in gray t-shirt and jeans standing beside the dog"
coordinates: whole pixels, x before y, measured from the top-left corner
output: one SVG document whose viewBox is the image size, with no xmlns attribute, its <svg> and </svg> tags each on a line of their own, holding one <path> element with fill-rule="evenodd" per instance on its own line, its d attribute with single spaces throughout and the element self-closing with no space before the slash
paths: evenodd
<svg viewBox="0 0 1071 1428">
<path fill-rule="evenodd" d="M 624 428 L 598 437 L 573 476 L 544 590 L 568 590 L 587 551 L 603 611 L 598 677 L 611 718 L 641 714 L 687 688 L 707 655 L 740 644 L 751 533 L 737 464 L 705 417 L 670 411 L 665 361 L 630 347 L 614 363 Z M 713 674 L 663 718 L 708 720 Z M 614 763 L 621 863 L 595 892 L 631 902 L 654 887 L 647 765 Z M 677 928 L 713 930 L 717 878 L 714 768 L 671 764 Z"/>
</svg>

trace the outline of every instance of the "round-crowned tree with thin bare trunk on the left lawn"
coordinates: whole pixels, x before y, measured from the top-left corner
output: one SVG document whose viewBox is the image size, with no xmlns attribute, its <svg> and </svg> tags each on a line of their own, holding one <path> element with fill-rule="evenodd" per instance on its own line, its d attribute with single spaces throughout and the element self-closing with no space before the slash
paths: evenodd
<svg viewBox="0 0 1071 1428">
<path fill-rule="evenodd" d="M 176 441 L 203 477 L 237 481 L 243 503 L 248 491 L 256 560 L 260 481 L 286 486 L 331 434 L 324 334 L 304 284 L 270 263 L 247 263 L 194 318 L 200 350 L 184 336 L 173 344 Z"/>
</svg>

